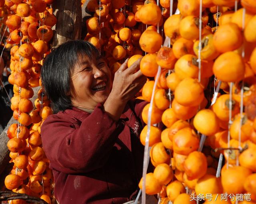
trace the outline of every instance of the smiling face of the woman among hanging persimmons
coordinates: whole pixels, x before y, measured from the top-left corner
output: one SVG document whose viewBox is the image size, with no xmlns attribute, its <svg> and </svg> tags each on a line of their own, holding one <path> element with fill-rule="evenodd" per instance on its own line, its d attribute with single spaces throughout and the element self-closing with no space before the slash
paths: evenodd
<svg viewBox="0 0 256 204">
<path fill-rule="evenodd" d="M 80 55 L 74 67 L 72 85 L 72 105 L 94 109 L 98 103 L 104 103 L 110 94 L 110 69 L 102 58 L 90 59 L 86 55 Z"/>
</svg>

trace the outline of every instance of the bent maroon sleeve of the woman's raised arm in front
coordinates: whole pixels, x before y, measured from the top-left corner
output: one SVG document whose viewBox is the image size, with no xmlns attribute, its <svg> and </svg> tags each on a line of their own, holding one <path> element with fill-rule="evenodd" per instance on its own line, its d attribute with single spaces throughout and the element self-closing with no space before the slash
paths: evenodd
<svg viewBox="0 0 256 204">
<path fill-rule="evenodd" d="M 80 128 L 56 115 L 49 116 L 41 128 L 43 148 L 57 171 L 76 174 L 102 167 L 122 131 L 102 105 L 85 118 Z"/>
</svg>

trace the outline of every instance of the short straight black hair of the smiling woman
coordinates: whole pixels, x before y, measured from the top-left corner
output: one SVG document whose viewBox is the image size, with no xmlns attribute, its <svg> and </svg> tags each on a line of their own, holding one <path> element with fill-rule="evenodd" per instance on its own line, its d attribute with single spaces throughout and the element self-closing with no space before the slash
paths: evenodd
<svg viewBox="0 0 256 204">
<path fill-rule="evenodd" d="M 44 93 L 52 102 L 54 114 L 72 107 L 70 90 L 72 73 L 78 57 L 86 55 L 100 57 L 94 45 L 83 40 L 73 40 L 63 43 L 54 49 L 45 59 L 41 70 Z"/>
</svg>

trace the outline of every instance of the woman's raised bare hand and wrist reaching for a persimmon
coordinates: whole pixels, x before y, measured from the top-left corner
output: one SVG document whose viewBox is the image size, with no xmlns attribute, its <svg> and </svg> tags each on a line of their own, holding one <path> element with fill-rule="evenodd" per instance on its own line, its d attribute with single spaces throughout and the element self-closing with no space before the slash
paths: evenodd
<svg viewBox="0 0 256 204">
<path fill-rule="evenodd" d="M 127 66 L 128 59 L 116 71 L 112 90 L 104 103 L 104 109 L 113 120 L 118 121 L 128 100 L 132 99 L 146 83 L 140 71 L 140 61 Z"/>
</svg>

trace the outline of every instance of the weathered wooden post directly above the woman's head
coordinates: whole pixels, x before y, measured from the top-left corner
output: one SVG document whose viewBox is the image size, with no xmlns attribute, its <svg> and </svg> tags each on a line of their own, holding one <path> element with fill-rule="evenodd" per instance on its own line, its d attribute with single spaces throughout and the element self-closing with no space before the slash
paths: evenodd
<svg viewBox="0 0 256 204">
<path fill-rule="evenodd" d="M 57 24 L 52 28 L 55 34 L 52 49 L 70 40 L 80 39 L 82 26 L 81 0 L 58 0 L 52 4 Z"/>
</svg>

